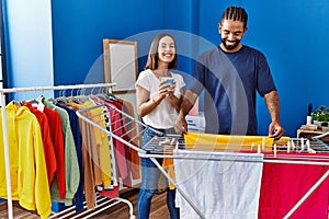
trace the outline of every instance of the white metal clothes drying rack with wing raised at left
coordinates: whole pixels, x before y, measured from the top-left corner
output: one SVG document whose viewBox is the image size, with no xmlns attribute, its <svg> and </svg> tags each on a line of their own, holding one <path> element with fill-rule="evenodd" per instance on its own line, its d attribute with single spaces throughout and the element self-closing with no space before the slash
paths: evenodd
<svg viewBox="0 0 329 219">
<path fill-rule="evenodd" d="M 98 106 L 101 107 L 101 106 Z M 178 135 L 164 135 L 154 137 L 145 148 L 140 149 L 135 147 L 131 140 L 126 140 L 122 136 L 115 135 L 111 130 L 106 130 L 100 127 L 97 123 L 91 120 L 91 118 L 83 116 L 81 114 L 83 111 L 90 111 L 90 108 L 82 110 L 81 112 L 78 111 L 77 115 L 84 119 L 86 122 L 90 123 L 91 125 L 102 129 L 105 131 L 109 137 L 112 137 L 124 145 L 128 146 L 129 148 L 138 151 L 138 155 L 141 158 L 149 158 L 157 168 L 162 172 L 162 174 L 168 178 L 169 183 L 171 183 L 181 194 L 183 199 L 192 207 L 192 209 L 196 212 L 200 218 L 205 218 L 203 212 L 194 205 L 193 201 L 189 198 L 188 195 L 181 189 L 180 185 L 175 183 L 172 176 L 164 170 L 164 168 L 157 161 L 157 158 L 161 159 L 173 159 L 173 160 L 204 160 L 207 161 L 231 161 L 231 162 L 254 162 L 254 163 L 274 163 L 274 164 L 305 164 L 307 166 L 310 165 L 318 165 L 318 166 L 329 166 L 329 147 L 328 145 L 324 143 L 321 140 L 314 138 L 314 139 L 298 139 L 298 138 L 288 138 L 290 140 L 286 145 L 277 145 L 274 142 L 274 146 L 265 146 L 264 143 L 259 146 L 248 146 L 248 149 L 242 149 L 243 146 L 241 145 L 226 145 L 224 153 L 226 160 L 214 158 L 213 154 L 216 152 L 215 147 L 212 146 L 207 148 L 204 146 L 195 146 L 194 148 L 189 148 L 190 146 L 183 142 L 182 137 Z M 110 107 L 109 111 L 113 111 L 117 114 L 125 114 L 117 108 Z M 141 128 L 137 130 L 136 135 L 133 138 L 143 138 L 144 131 L 147 127 L 146 125 L 141 124 L 139 120 L 136 120 L 128 115 L 125 115 L 129 119 L 127 123 L 136 123 L 136 126 L 140 126 Z M 157 130 L 154 130 L 158 132 Z M 237 147 L 237 148 L 235 148 Z M 275 153 L 273 154 L 273 147 L 275 148 Z M 264 149 L 262 149 L 264 148 Z M 257 150 L 256 150 L 257 149 Z M 290 150 L 288 152 L 286 152 Z M 179 153 L 178 151 L 186 151 L 190 152 L 191 157 L 186 158 L 183 153 Z M 277 152 L 277 153 L 276 153 Z M 240 153 L 239 158 L 237 153 Z M 231 154 L 231 157 L 229 157 Z M 249 154 L 249 159 L 248 155 Z M 311 154 L 307 155 L 307 154 Z M 314 155 L 313 155 L 314 154 Z M 250 157 L 251 155 L 251 157 Z M 246 158 L 243 158 L 246 157 Z M 252 157 L 262 157 L 262 160 L 253 160 L 250 159 Z M 311 188 L 300 198 L 300 200 L 295 204 L 295 206 L 290 209 L 287 214 L 285 214 L 284 218 L 290 218 L 297 208 L 329 177 L 329 170 L 321 174 L 321 177 L 317 180 L 317 182 L 311 186 Z"/>
</svg>

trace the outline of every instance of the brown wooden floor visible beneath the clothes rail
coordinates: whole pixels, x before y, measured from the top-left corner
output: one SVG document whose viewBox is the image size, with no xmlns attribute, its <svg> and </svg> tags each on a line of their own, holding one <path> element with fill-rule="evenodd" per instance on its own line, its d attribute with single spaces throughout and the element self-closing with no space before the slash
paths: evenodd
<svg viewBox="0 0 329 219">
<path fill-rule="evenodd" d="M 166 192 L 156 194 L 152 198 L 150 219 L 169 219 L 169 211 L 166 204 Z M 136 200 L 138 196 L 138 189 L 129 191 L 122 194 L 122 198 L 128 199 L 134 207 L 134 215 L 136 216 Z M 13 203 L 13 217 L 15 219 L 38 219 L 39 217 L 35 212 L 27 211 L 19 206 L 18 203 Z M 71 216 L 73 217 L 73 216 Z M 0 204 L 0 219 L 8 218 L 7 203 Z M 69 218 L 69 217 L 68 217 Z M 120 203 L 102 212 L 99 212 L 91 218 L 94 219 L 129 219 L 129 207 L 127 204 Z M 137 218 L 137 216 L 136 216 Z"/>
</svg>

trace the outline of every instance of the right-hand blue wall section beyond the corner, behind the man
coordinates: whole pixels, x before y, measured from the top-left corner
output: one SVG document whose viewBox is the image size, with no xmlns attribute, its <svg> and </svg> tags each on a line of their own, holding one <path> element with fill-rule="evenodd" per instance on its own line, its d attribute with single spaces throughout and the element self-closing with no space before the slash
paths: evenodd
<svg viewBox="0 0 329 219">
<path fill-rule="evenodd" d="M 200 35 L 219 44 L 216 25 L 227 5 L 242 5 L 249 14 L 243 44 L 268 57 L 281 100 L 281 120 L 287 136 L 306 123 L 307 105 L 329 105 L 329 1 L 200 1 Z M 266 134 L 270 116 L 258 101 L 259 132 Z"/>
</svg>

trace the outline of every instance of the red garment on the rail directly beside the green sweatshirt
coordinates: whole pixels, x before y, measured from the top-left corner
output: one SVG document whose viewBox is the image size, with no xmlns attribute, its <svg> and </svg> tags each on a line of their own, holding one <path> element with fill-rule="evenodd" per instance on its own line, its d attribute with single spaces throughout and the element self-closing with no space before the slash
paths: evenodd
<svg viewBox="0 0 329 219">
<path fill-rule="evenodd" d="M 66 173 L 65 173 L 65 153 L 64 153 L 64 135 L 61 130 L 61 120 L 59 114 L 48 107 L 44 107 L 44 113 L 46 114 L 49 127 L 50 135 L 53 139 L 53 145 L 56 154 L 57 161 L 57 171 L 56 171 L 56 180 L 57 186 L 59 191 L 59 197 L 65 199 L 66 194 Z"/>
</svg>

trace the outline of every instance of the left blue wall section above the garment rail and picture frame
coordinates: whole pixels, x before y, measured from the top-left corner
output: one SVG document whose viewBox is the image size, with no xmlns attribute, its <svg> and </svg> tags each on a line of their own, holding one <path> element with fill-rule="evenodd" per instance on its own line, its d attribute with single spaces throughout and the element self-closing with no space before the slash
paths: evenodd
<svg viewBox="0 0 329 219">
<path fill-rule="evenodd" d="M 83 83 L 94 62 L 102 61 L 103 38 L 124 39 L 164 24 L 162 1 L 56 0 L 52 4 L 55 84 Z M 102 70 L 102 65 L 93 67 Z"/>
</svg>

